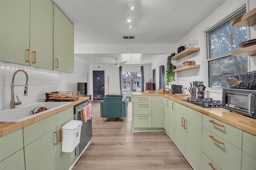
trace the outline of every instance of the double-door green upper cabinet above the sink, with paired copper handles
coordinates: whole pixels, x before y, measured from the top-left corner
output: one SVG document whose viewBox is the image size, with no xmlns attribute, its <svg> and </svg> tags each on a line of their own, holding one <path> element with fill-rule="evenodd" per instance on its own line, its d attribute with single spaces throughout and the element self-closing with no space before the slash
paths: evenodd
<svg viewBox="0 0 256 170">
<path fill-rule="evenodd" d="M 52 69 L 53 3 L 1 0 L 1 61 Z"/>
</svg>

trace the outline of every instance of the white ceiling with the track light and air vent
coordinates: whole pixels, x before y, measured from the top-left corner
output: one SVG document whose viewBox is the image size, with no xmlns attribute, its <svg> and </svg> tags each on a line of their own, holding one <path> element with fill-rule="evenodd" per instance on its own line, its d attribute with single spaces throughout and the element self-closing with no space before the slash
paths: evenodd
<svg viewBox="0 0 256 170">
<path fill-rule="evenodd" d="M 52 0 L 74 24 L 75 44 L 175 44 L 226 0 Z M 135 36 L 123 39 L 123 36 Z M 149 64 L 156 54 L 76 54 L 87 63 Z M 159 55 L 158 55 L 159 56 Z M 167 56 L 166 56 L 167 57 Z"/>
</svg>

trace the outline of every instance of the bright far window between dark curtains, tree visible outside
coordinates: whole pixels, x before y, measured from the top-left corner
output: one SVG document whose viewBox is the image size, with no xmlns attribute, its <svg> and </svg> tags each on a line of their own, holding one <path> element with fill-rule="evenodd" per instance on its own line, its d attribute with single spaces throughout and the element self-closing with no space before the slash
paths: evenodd
<svg viewBox="0 0 256 170">
<path fill-rule="evenodd" d="M 127 92 L 141 92 L 140 71 L 122 71 L 122 90 Z"/>
</svg>

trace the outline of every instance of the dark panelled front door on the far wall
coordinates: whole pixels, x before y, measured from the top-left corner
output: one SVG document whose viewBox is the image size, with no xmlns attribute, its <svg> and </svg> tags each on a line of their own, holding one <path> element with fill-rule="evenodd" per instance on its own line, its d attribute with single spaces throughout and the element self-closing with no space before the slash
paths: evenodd
<svg viewBox="0 0 256 170">
<path fill-rule="evenodd" d="M 92 71 L 93 73 L 93 100 L 103 100 L 105 96 L 104 71 Z"/>
</svg>

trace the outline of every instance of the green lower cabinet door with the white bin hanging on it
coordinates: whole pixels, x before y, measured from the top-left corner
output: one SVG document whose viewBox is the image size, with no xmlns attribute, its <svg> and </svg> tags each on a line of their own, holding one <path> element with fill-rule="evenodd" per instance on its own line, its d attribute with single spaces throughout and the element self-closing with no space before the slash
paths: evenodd
<svg viewBox="0 0 256 170">
<path fill-rule="evenodd" d="M 71 120 L 73 119 L 66 121 L 56 129 L 59 134 L 58 135 L 59 144 L 57 145 L 59 170 L 68 170 L 75 159 L 75 150 L 73 150 L 72 152 L 62 152 L 62 143 L 61 143 L 60 129 L 62 128 L 62 126 L 64 126 L 66 123 L 70 122 Z"/>
</svg>

